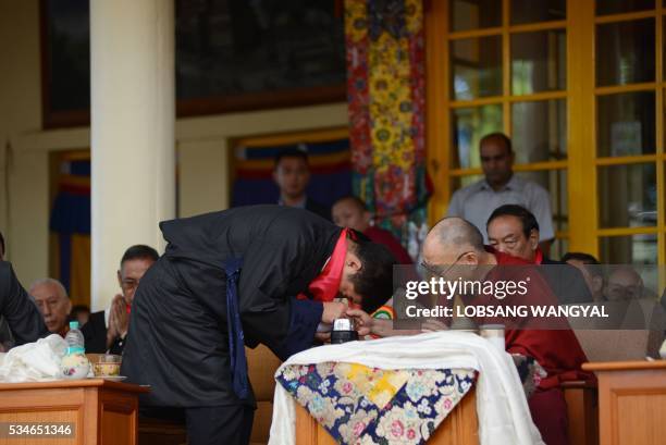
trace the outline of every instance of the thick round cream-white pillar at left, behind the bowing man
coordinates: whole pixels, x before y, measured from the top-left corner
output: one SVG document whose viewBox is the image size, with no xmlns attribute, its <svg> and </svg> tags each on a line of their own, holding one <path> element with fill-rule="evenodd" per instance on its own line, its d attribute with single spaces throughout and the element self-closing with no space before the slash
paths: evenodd
<svg viewBox="0 0 666 445">
<path fill-rule="evenodd" d="M 161 254 L 158 223 L 174 218 L 173 3 L 90 2 L 92 310 L 120 292 L 124 250 Z"/>
</svg>

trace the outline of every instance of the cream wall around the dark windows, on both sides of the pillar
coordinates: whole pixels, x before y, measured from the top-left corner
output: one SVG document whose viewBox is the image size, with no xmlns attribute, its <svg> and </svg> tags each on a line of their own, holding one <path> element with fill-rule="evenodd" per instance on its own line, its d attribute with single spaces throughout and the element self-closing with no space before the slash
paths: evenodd
<svg viewBox="0 0 666 445">
<path fill-rule="evenodd" d="M 41 129 L 38 0 L 0 1 L 0 231 L 9 240 L 9 260 L 28 285 L 48 274 L 49 152 L 89 148 L 90 132 Z M 345 103 L 178 120 L 180 215 L 229 206 L 231 138 L 345 125 Z"/>
</svg>

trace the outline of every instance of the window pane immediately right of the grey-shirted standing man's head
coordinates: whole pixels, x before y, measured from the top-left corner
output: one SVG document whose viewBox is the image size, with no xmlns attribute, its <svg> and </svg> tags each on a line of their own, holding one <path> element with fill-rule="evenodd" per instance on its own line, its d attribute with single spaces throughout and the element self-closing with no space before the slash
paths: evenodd
<svg viewBox="0 0 666 445">
<path fill-rule="evenodd" d="M 567 158 L 565 99 L 514 103 L 511 126 L 517 163 Z"/>
</svg>

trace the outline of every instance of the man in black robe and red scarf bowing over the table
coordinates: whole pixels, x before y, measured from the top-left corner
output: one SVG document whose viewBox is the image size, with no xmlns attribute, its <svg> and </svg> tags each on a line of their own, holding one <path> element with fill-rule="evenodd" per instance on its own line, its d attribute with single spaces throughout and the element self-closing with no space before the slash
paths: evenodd
<svg viewBox="0 0 666 445">
<path fill-rule="evenodd" d="M 344 314 L 335 295 L 373 311 L 393 291 L 383 246 L 305 210 L 242 207 L 160 228 L 169 245 L 136 291 L 122 373 L 151 386 L 144 407 L 183 409 L 190 445 L 248 443 L 244 345 L 284 360 Z"/>
</svg>

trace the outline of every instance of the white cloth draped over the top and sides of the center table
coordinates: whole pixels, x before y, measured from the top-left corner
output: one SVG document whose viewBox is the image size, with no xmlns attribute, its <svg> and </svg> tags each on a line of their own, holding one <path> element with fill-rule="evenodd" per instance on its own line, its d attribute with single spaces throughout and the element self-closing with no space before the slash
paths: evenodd
<svg viewBox="0 0 666 445">
<path fill-rule="evenodd" d="M 511 357 L 476 334 L 442 331 L 321 346 L 291 357 L 275 375 L 289 364 L 325 361 L 360 363 L 388 370 L 474 369 L 479 371 L 477 415 L 481 445 L 543 445 Z M 295 443 L 295 403 L 278 383 L 270 445 Z"/>
</svg>

